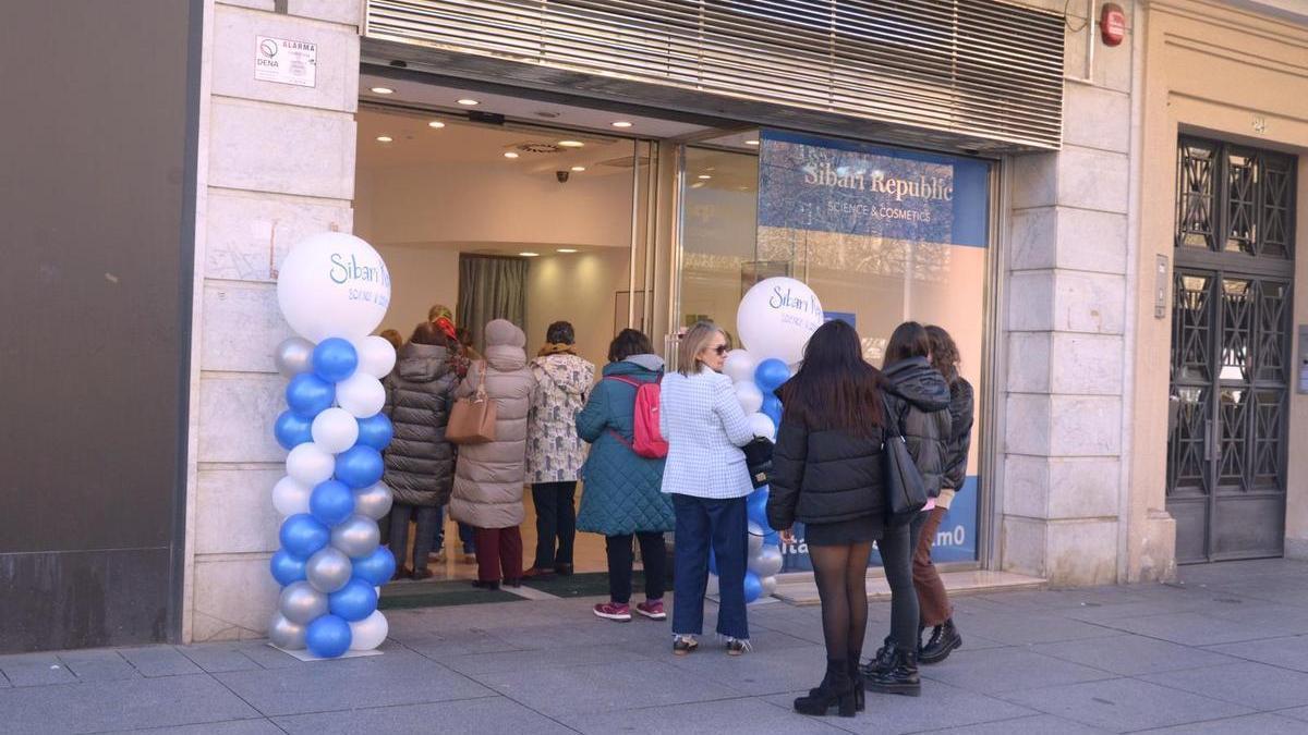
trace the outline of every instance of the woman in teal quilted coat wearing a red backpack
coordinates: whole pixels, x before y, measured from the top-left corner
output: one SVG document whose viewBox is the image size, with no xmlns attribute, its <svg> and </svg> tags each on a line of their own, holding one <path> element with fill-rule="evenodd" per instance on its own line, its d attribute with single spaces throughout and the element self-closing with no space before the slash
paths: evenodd
<svg viewBox="0 0 1308 735">
<path fill-rule="evenodd" d="M 619 623 L 632 620 L 633 536 L 645 564 L 645 602 L 636 612 L 667 620 L 663 534 L 672 530 L 675 517 L 672 501 L 661 492 L 667 455 L 657 433 L 663 358 L 653 353 L 647 336 L 623 330 L 608 347 L 603 379 L 577 415 L 577 434 L 591 445 L 582 467 L 577 528 L 604 535 L 610 602 L 596 604 L 594 612 Z"/>
</svg>

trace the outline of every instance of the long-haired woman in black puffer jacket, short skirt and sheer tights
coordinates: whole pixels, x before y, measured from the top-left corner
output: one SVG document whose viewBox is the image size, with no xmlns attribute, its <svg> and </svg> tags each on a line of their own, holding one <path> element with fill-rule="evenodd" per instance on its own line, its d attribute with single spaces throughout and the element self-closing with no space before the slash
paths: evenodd
<svg viewBox="0 0 1308 735">
<path fill-rule="evenodd" d="M 808 340 L 803 366 L 781 387 L 785 411 L 773 455 L 768 522 L 793 543 L 790 527 L 804 524 L 808 556 L 821 598 L 827 676 L 795 711 L 825 714 L 838 705 L 853 717 L 862 704 L 858 657 L 867 629 L 865 577 L 872 541 L 886 530 L 882 484 L 886 402 L 882 374 L 863 361 L 858 332 L 841 320 L 823 324 Z M 901 555 L 912 609 L 897 612 L 916 630 L 917 607 L 908 572 L 908 536 L 889 556 Z M 883 551 L 883 553 L 887 553 Z M 899 561 L 899 560 L 897 560 Z M 909 632 L 912 634 L 912 632 Z"/>
</svg>

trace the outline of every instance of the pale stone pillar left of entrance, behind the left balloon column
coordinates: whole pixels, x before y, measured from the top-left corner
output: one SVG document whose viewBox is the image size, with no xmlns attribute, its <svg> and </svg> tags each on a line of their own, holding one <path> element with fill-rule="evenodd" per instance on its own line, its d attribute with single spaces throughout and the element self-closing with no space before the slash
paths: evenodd
<svg viewBox="0 0 1308 735">
<path fill-rule="evenodd" d="M 259 637 L 277 586 L 272 438 L 289 328 L 273 272 L 298 239 L 349 231 L 360 4 L 209 1 L 204 18 L 187 490 L 186 641 Z M 318 44 L 314 88 L 254 77 L 258 35 Z"/>
</svg>

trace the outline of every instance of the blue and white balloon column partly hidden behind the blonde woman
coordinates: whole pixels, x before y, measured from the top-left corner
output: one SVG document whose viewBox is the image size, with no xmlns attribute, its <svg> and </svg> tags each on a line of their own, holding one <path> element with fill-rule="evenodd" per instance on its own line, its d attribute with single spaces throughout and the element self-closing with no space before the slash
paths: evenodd
<svg viewBox="0 0 1308 735">
<path fill-rule="evenodd" d="M 777 438 L 781 400 L 776 390 L 790 379 L 791 365 L 803 358 L 804 345 L 823 324 L 821 302 L 812 289 L 794 279 L 768 279 L 751 288 L 736 311 L 736 332 L 744 349 L 727 354 L 723 371 L 735 382 L 736 399 L 749 416 L 753 433 Z M 768 526 L 768 487 L 748 497 L 749 570 L 744 599 L 755 602 L 777 589 L 781 538 Z"/>
</svg>

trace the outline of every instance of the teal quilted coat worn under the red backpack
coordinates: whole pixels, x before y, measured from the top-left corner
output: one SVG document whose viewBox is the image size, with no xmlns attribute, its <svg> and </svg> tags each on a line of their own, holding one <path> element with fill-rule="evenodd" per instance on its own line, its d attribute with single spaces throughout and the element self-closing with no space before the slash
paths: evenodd
<svg viewBox="0 0 1308 735">
<path fill-rule="evenodd" d="M 664 460 L 640 456 L 613 436 L 630 442 L 636 413 L 636 387 L 613 377 L 646 383 L 658 381 L 662 370 L 663 360 L 654 354 L 610 362 L 577 415 L 577 434 L 591 445 L 577 528 L 606 536 L 674 528 L 672 498 L 662 492 Z"/>
</svg>

